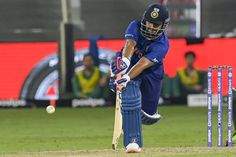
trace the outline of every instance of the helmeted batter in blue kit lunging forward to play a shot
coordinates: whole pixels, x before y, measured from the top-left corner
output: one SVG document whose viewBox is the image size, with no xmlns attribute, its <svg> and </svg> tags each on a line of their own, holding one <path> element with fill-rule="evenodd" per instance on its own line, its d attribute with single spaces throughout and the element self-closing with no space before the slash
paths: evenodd
<svg viewBox="0 0 236 157">
<path fill-rule="evenodd" d="M 116 84 L 123 86 L 122 128 L 127 153 L 141 151 L 141 123 L 151 125 L 160 119 L 157 106 L 164 75 L 163 60 L 169 49 L 164 33 L 169 21 L 164 5 L 151 4 L 141 20 L 128 25 L 122 52 L 111 63 L 111 90 L 116 90 Z M 115 80 L 113 76 L 117 74 L 122 74 L 122 78 Z"/>
</svg>

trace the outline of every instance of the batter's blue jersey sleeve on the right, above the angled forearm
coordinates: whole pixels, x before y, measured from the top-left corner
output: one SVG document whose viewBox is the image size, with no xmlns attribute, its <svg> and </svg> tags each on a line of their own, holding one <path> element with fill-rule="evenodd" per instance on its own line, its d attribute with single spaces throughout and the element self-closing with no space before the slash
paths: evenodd
<svg viewBox="0 0 236 157">
<path fill-rule="evenodd" d="M 168 46 L 165 45 L 154 45 L 149 49 L 150 53 L 146 54 L 145 57 L 153 62 L 154 64 L 162 63 L 168 52 Z"/>
</svg>

